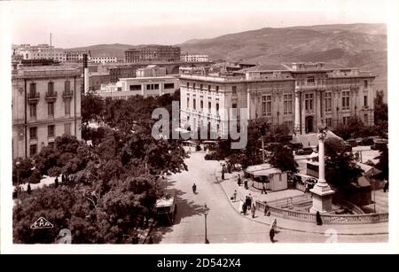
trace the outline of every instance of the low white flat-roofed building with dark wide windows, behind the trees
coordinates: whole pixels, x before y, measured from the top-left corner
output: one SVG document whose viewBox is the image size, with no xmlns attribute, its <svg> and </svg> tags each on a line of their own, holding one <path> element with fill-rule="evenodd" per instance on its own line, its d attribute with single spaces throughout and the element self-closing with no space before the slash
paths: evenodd
<svg viewBox="0 0 399 272">
<path fill-rule="evenodd" d="M 174 76 L 121 78 L 119 82 L 102 85 L 101 97 L 128 99 L 133 96 L 159 97 L 173 94 L 179 89 L 179 80 Z"/>
</svg>

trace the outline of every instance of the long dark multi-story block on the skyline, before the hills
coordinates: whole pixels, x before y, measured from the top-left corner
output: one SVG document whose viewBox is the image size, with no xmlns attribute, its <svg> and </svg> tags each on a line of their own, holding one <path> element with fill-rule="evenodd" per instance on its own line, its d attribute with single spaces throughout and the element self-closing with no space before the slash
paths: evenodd
<svg viewBox="0 0 399 272">
<path fill-rule="evenodd" d="M 178 62 L 180 47 L 170 45 L 147 45 L 125 51 L 125 61 L 129 63 Z"/>
</svg>

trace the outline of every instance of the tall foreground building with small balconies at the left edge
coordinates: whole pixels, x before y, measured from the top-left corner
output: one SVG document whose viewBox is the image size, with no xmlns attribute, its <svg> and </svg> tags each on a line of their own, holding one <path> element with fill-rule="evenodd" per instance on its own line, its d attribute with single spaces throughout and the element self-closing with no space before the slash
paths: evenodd
<svg viewBox="0 0 399 272">
<path fill-rule="evenodd" d="M 81 139 L 81 74 L 66 66 L 12 70 L 12 158 L 28 158 L 56 136 Z"/>
</svg>

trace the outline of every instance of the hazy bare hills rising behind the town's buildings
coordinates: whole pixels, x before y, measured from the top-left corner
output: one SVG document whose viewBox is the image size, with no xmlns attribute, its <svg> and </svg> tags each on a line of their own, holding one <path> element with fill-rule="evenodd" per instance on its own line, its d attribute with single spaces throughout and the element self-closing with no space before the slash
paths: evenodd
<svg viewBox="0 0 399 272">
<path fill-rule="evenodd" d="M 324 61 L 359 67 L 377 75 L 375 89 L 387 94 L 387 27 L 385 24 L 335 24 L 306 27 L 264 27 L 176 44 L 182 52 L 206 54 L 214 61 L 279 64 Z M 75 49 L 92 55 L 123 58 L 129 44 L 99 44 Z M 386 96 L 387 98 L 387 96 Z"/>
</svg>

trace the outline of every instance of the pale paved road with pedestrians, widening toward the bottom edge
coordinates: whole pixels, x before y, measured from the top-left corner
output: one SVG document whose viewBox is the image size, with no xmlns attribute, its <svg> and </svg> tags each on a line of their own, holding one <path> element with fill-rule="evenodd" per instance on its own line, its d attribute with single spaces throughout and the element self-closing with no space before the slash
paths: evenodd
<svg viewBox="0 0 399 272">
<path fill-rule="evenodd" d="M 192 153 L 186 159 L 188 172 L 173 175 L 169 187 L 177 190 L 177 214 L 171 227 L 153 230 L 154 243 L 202 244 L 205 242 L 205 217 L 203 206 L 210 208 L 207 215 L 209 243 L 270 243 L 269 226 L 246 219 L 231 206 L 222 187 L 215 181 L 217 161 L 203 159 L 204 154 Z M 197 184 L 197 194 L 192 193 L 192 183 Z M 333 232 L 333 231 L 332 231 Z M 289 230 L 279 230 L 278 243 L 382 242 L 387 235 L 338 236 L 317 235 Z"/>
</svg>

